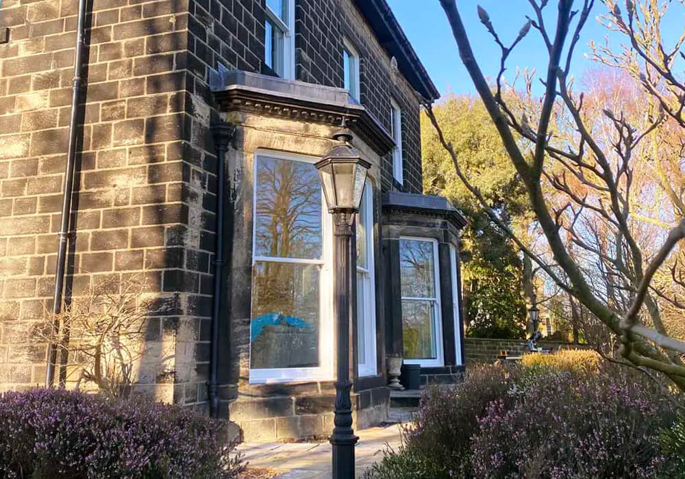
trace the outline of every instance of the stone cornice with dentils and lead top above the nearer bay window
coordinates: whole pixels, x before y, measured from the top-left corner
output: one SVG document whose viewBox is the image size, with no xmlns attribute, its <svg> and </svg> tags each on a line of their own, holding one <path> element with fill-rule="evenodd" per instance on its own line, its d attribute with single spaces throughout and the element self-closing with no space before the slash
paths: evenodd
<svg viewBox="0 0 685 479">
<path fill-rule="evenodd" d="M 345 124 L 378 155 L 386 155 L 395 146 L 390 133 L 362 105 L 345 101 L 347 92 L 301 82 L 288 82 L 263 75 L 231 75 L 234 83 L 213 86 L 214 99 L 221 112 L 250 112 L 264 116 L 291 118 L 340 127 Z M 245 79 L 256 79 L 245 81 Z M 228 79 L 230 81 L 230 79 Z M 241 81 L 242 80 L 242 81 Z M 243 83 L 258 83 L 252 86 Z M 268 86 L 274 88 L 260 88 Z"/>
</svg>

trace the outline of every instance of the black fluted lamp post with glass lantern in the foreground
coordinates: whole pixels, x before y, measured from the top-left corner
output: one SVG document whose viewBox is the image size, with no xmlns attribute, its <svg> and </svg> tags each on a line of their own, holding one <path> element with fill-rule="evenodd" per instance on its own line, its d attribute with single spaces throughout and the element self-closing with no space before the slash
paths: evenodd
<svg viewBox="0 0 685 479">
<path fill-rule="evenodd" d="M 358 437 L 352 429 L 352 401 L 349 378 L 349 324 L 352 222 L 359 211 L 366 171 L 371 164 L 362 159 L 350 144 L 352 135 L 339 131 L 333 138 L 338 143 L 316 163 L 328 212 L 334 220 L 336 261 L 335 315 L 338 322 L 338 374 L 336 376 L 335 427 L 328 438 L 333 448 L 333 478 L 354 478 L 354 445 Z"/>
</svg>

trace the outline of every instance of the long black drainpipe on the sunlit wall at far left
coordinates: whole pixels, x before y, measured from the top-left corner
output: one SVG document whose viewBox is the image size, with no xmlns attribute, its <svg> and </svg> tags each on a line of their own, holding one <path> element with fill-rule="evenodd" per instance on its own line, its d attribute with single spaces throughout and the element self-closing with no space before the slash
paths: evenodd
<svg viewBox="0 0 685 479">
<path fill-rule="evenodd" d="M 69 219 L 71 217 L 71 196 L 74 190 L 74 170 L 76 166 L 77 142 L 77 109 L 81 85 L 83 83 L 83 57 L 86 30 L 86 0 L 79 0 L 79 14 L 76 30 L 76 51 L 74 54 L 74 83 L 71 96 L 71 118 L 69 119 L 69 152 L 66 156 L 66 170 L 64 172 L 64 197 L 62 198 L 62 224 L 60 225 L 59 246 L 57 252 L 57 266 L 55 269 L 55 291 L 52 311 L 55 315 L 62 312 L 62 292 L 64 290 L 64 268 L 66 266 L 66 244 L 69 235 Z M 53 320 L 53 331 L 57 331 L 59 324 Z M 57 362 L 57 348 L 49 344 L 47 353 L 47 367 L 45 370 L 45 387 L 51 387 L 55 379 L 55 363 Z"/>
</svg>

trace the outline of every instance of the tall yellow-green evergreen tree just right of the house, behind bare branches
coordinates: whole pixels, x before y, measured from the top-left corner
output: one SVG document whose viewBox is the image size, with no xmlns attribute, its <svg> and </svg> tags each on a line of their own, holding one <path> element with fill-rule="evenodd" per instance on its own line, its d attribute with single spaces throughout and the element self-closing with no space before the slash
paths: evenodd
<svg viewBox="0 0 685 479">
<path fill-rule="evenodd" d="M 471 96 L 451 95 L 434 108 L 434 114 L 455 151 L 464 158 L 469 181 L 477 185 L 488 206 L 503 221 L 522 230 L 530 213 L 525 192 L 483 103 Z M 458 179 L 451 157 L 425 115 L 421 117 L 421 131 L 424 191 L 447 197 L 469 221 L 460 244 L 466 334 L 523 338 L 526 307 L 519 249 Z"/>
</svg>

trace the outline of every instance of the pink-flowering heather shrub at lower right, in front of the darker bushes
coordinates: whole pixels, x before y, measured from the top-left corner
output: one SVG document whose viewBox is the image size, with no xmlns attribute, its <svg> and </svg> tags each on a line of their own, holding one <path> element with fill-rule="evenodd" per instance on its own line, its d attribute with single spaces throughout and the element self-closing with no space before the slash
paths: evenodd
<svg viewBox="0 0 685 479">
<path fill-rule="evenodd" d="M 479 478 L 656 478 L 673 402 L 622 374 L 530 376 L 479 419 Z"/>
</svg>

